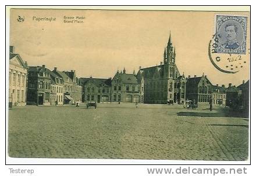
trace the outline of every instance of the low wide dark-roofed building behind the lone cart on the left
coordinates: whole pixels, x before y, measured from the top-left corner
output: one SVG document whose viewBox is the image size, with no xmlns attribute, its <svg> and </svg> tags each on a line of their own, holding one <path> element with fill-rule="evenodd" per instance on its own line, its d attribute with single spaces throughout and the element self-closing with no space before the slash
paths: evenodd
<svg viewBox="0 0 256 176">
<path fill-rule="evenodd" d="M 82 101 L 111 102 L 111 78 L 79 78 Z"/>
</svg>

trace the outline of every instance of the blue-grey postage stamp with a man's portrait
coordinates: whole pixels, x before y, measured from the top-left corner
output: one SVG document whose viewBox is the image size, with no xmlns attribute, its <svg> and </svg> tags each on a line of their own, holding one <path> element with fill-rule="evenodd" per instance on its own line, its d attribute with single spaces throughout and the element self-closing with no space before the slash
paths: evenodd
<svg viewBox="0 0 256 176">
<path fill-rule="evenodd" d="M 247 17 L 216 15 L 216 53 L 246 54 Z"/>
</svg>

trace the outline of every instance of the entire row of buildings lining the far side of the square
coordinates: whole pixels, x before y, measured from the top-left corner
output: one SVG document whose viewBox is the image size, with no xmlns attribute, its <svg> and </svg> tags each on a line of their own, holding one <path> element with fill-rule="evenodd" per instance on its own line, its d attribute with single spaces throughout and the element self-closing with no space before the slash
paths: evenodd
<svg viewBox="0 0 256 176">
<path fill-rule="evenodd" d="M 163 52 L 163 61 L 154 67 L 139 68 L 136 74 L 126 69 L 113 78 L 77 78 L 76 72 L 29 67 L 10 46 L 9 97 L 14 105 L 57 105 L 76 102 L 139 102 L 148 104 L 195 104 L 231 106 L 235 101 L 248 105 L 250 83 L 229 87 L 212 85 L 207 75 L 187 78 L 175 63 L 176 52 L 171 36 Z M 242 98 L 241 98 L 242 97 Z M 243 103 L 242 103 L 243 102 Z"/>
</svg>

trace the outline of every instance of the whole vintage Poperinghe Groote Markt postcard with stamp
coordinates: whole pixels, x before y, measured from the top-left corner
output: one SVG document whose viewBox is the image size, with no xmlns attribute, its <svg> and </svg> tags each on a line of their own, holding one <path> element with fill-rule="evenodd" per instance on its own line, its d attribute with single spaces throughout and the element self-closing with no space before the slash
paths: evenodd
<svg viewBox="0 0 256 176">
<path fill-rule="evenodd" d="M 250 160 L 250 12 L 10 9 L 9 40 L 9 157 Z"/>
</svg>

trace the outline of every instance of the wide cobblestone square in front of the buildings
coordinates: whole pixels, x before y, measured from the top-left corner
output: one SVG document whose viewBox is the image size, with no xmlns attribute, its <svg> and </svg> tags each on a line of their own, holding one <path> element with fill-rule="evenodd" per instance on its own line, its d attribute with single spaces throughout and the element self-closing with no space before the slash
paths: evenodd
<svg viewBox="0 0 256 176">
<path fill-rule="evenodd" d="M 14 107 L 10 157 L 246 160 L 248 119 L 178 116 L 180 106 Z M 179 113 L 178 113 L 179 114 Z"/>
</svg>

